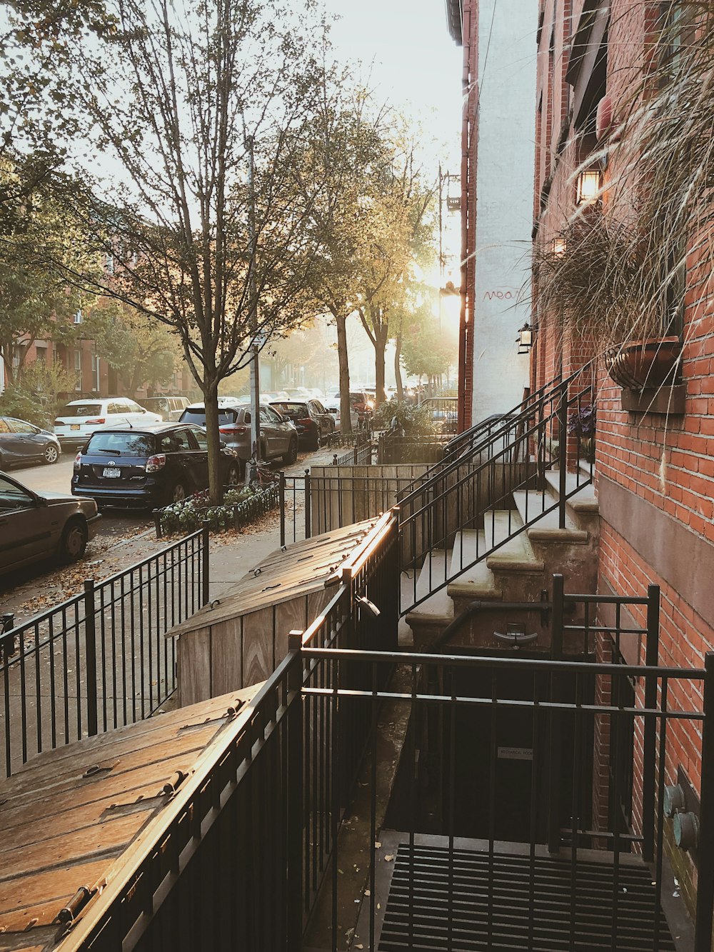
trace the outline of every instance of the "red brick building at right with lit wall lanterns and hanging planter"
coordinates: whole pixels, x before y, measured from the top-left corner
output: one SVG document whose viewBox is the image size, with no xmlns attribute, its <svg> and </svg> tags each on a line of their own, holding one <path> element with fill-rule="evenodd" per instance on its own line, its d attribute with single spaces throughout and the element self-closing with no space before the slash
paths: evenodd
<svg viewBox="0 0 714 952">
<path fill-rule="evenodd" d="M 612 225 L 612 219 L 621 213 L 624 191 L 632 181 L 625 176 L 623 155 L 637 134 L 636 123 L 628 117 L 637 108 L 638 96 L 642 103 L 662 89 L 663 62 L 675 57 L 685 38 L 684 32 L 672 32 L 673 24 L 684 22 L 688 7 L 685 2 L 663 4 L 659 0 L 541 0 L 535 125 L 536 260 L 550 254 L 553 268 L 558 268 L 557 257 L 570 253 L 566 243 L 573 228 L 587 233 L 588 228 L 598 226 L 601 216 L 605 220 L 609 216 Z M 676 106 L 674 84 L 673 89 L 668 108 Z M 679 108 L 686 108 L 684 101 Z M 592 173 L 589 180 L 587 173 Z M 583 188 L 594 189 L 589 201 L 584 201 Z M 631 208 L 636 208 L 638 201 L 633 195 Z M 690 236 L 689 241 L 694 240 L 695 236 Z M 599 315 L 588 317 L 586 304 L 580 332 L 576 331 L 563 320 L 562 313 L 548 307 L 545 293 L 541 297 L 536 293 L 531 382 L 537 389 L 565 379 L 594 360 L 595 484 L 601 517 L 599 591 L 635 594 L 646 585 L 659 585 L 659 663 L 702 667 L 705 652 L 714 645 L 710 256 L 701 250 L 695 255 L 690 244 L 679 270 L 682 284 L 674 288 L 676 307 L 665 310 L 659 333 L 635 332 L 636 347 L 630 347 L 626 334 L 608 339 L 596 320 Z M 670 277 L 674 284 L 674 268 Z M 605 281 L 597 272 L 594 279 Z M 596 291 L 599 288 L 593 295 Z M 589 332 L 588 321 L 592 321 Z M 611 354 L 620 355 L 614 365 L 607 353 L 613 344 L 616 349 Z M 671 369 L 661 379 L 651 368 L 647 376 L 645 351 L 667 360 L 671 356 Z M 575 466 L 575 461 L 571 465 Z M 643 616 L 637 621 L 642 623 Z M 601 643 L 604 654 L 611 648 Z M 639 640 L 624 638 L 620 650 L 627 663 L 644 663 L 645 647 Z M 670 698 L 675 707 L 687 703 L 701 704 L 701 698 Z M 682 784 L 689 798 L 687 805 L 693 805 L 695 812 L 702 773 L 697 753 L 700 740 L 692 725 L 682 726 L 665 764 L 665 782 Z M 599 739 L 604 758 L 607 742 L 607 737 Z M 636 737 L 636 750 L 640 743 L 641 738 Z M 635 824 L 638 808 L 634 803 Z M 696 860 L 691 852 L 674 846 L 671 853 L 685 893 L 691 892 L 697 881 Z"/>
</svg>

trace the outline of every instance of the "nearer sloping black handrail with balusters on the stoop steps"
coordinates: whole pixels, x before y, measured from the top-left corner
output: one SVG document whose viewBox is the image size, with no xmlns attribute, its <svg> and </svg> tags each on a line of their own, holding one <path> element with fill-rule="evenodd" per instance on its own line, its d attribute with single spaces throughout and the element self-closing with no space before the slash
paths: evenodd
<svg viewBox="0 0 714 952">
<path fill-rule="evenodd" d="M 400 501 L 401 567 L 411 577 L 403 615 L 546 514 L 557 511 L 558 526 L 565 528 L 567 500 L 592 483 L 592 463 L 584 470 L 579 462 L 585 439 L 580 422 L 593 419 L 594 406 L 593 383 L 576 382 L 586 367 L 529 396 L 521 413 Z M 570 474 L 569 462 L 575 464 Z M 558 473 L 557 498 L 545 492 L 548 471 Z M 514 512 L 513 493 L 519 491 L 526 493 L 523 519 Z M 507 515 L 497 532 L 499 510 Z M 466 529 L 476 530 L 468 545 Z M 447 560 L 457 535 L 458 557 L 451 568 Z M 443 564 L 431 558 L 436 551 L 444 552 Z M 428 573 L 426 586 L 419 585 L 420 570 Z"/>
</svg>

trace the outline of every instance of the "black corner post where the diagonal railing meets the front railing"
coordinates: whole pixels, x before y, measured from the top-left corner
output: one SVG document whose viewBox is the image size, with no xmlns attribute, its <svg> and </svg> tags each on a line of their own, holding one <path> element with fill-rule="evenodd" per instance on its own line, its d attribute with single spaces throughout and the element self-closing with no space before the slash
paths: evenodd
<svg viewBox="0 0 714 952">
<path fill-rule="evenodd" d="M 288 896 L 287 948 L 300 952 L 303 939 L 303 632 L 288 633 Z M 333 862 L 335 862 L 333 860 Z"/>
</svg>

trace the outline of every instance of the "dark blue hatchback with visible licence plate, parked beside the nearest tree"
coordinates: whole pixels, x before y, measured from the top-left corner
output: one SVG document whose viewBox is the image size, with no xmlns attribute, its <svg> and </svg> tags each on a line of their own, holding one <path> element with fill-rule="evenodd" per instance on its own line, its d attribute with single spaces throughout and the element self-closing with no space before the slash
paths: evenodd
<svg viewBox="0 0 714 952">
<path fill-rule="evenodd" d="M 240 461 L 221 447 L 224 486 L 240 482 Z M 166 506 L 208 486 L 206 430 L 184 424 L 102 429 L 89 437 L 74 460 L 72 493 L 98 506 Z"/>
</svg>

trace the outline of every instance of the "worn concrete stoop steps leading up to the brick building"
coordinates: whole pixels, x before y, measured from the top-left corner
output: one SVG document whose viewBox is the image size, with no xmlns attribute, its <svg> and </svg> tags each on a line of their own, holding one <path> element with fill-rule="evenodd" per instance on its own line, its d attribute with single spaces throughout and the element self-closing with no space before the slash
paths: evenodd
<svg viewBox="0 0 714 952">
<path fill-rule="evenodd" d="M 589 465 L 585 473 L 589 475 Z M 496 633 L 507 635 L 506 626 L 512 625 L 520 627 L 526 636 L 537 635 L 534 641 L 523 643 L 530 650 L 549 646 L 549 625 L 540 611 L 506 610 L 498 605 L 539 602 L 544 591 L 549 598 L 554 572 L 565 576 L 570 591 L 595 591 L 598 502 L 593 486 L 578 488 L 583 479 L 583 472 L 580 480 L 575 473 L 567 474 L 566 492 L 573 495 L 566 501 L 565 528 L 558 526 L 557 509 L 544 512 L 559 498 L 558 473 L 547 472 L 545 492 L 513 493 L 512 508 L 488 510 L 483 528 L 462 530 L 449 551 L 430 553 L 416 584 L 417 601 L 423 597 L 425 601 L 406 616 L 416 650 L 427 651 L 429 646 L 437 645 L 446 625 L 474 601 L 484 605 L 448 638 L 447 644 L 503 649 L 511 643 Z M 526 523 L 530 523 L 527 528 Z M 479 561 L 470 565 L 476 558 Z M 462 566 L 469 565 L 462 571 Z M 446 579 L 445 587 L 428 595 Z"/>
</svg>

